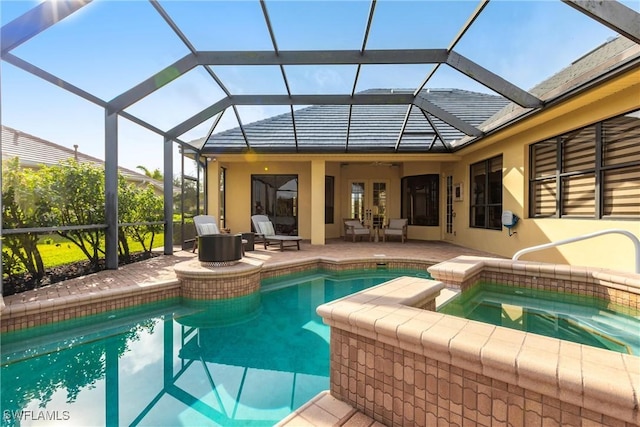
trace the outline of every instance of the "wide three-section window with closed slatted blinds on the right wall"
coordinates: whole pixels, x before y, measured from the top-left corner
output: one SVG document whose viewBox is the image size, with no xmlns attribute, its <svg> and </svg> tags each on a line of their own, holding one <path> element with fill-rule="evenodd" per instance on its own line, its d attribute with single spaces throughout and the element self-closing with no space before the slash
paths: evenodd
<svg viewBox="0 0 640 427">
<path fill-rule="evenodd" d="M 640 217 L 640 110 L 530 148 L 532 217 Z"/>
</svg>

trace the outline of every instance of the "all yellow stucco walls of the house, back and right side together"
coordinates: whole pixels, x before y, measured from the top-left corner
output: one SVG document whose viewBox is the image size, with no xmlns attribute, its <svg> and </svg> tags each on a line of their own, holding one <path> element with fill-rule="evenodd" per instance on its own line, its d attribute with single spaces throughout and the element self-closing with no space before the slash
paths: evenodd
<svg viewBox="0 0 640 427">
<path fill-rule="evenodd" d="M 440 227 L 409 227 L 409 238 L 448 240 L 465 247 L 511 257 L 520 249 L 609 228 L 620 228 L 640 236 L 640 221 L 528 218 L 529 145 L 569 130 L 640 108 L 640 70 L 613 79 L 597 89 L 585 91 L 570 101 L 558 103 L 517 125 L 485 137 L 455 154 L 423 155 L 224 155 L 209 162 L 209 209 L 217 210 L 217 168 L 227 168 L 227 226 L 233 232 L 250 229 L 250 183 L 252 174 L 297 174 L 299 234 L 311 238 L 311 161 L 325 161 L 325 174 L 335 177 L 335 222 L 325 225 L 325 237 L 342 234 L 342 219 L 349 216 L 349 185 L 352 180 L 386 180 L 389 183 L 388 216 L 399 217 L 401 179 L 405 176 L 440 175 Z M 469 227 L 469 167 L 503 156 L 503 209 L 511 210 L 520 222 L 509 237 L 502 230 Z M 373 165 L 374 162 L 398 166 Z M 267 168 L 267 170 L 265 170 Z M 446 179 L 463 184 L 463 200 L 455 201 L 453 234 L 445 233 Z M 213 197 L 212 197 L 213 196 Z M 214 209 L 214 210 L 211 210 Z M 633 245 L 623 236 L 604 236 L 558 249 L 528 254 L 523 259 L 601 266 L 632 271 Z"/>
</svg>

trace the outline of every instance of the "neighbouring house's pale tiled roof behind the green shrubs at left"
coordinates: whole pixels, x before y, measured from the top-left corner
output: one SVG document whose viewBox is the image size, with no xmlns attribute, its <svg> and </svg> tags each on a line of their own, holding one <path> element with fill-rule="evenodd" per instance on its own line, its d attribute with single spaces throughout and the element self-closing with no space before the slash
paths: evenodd
<svg viewBox="0 0 640 427">
<path fill-rule="evenodd" d="M 18 157 L 20 164 L 25 167 L 56 165 L 61 161 L 74 157 L 80 163 L 92 163 L 100 167 L 104 166 L 104 161 L 98 158 L 83 154 L 75 149 L 54 144 L 51 141 L 29 135 L 28 133 L 8 126 L 2 126 L 2 160 L 15 157 Z M 162 190 L 163 188 L 163 183 L 157 179 L 152 179 L 144 174 L 123 167 L 119 167 L 118 170 L 127 181 L 138 184 L 150 183 L 158 190 Z"/>
</svg>

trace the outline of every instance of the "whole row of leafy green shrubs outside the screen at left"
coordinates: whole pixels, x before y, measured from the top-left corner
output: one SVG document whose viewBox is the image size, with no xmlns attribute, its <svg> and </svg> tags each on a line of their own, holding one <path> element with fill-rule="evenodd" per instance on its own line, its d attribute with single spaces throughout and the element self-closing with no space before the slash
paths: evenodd
<svg viewBox="0 0 640 427">
<path fill-rule="evenodd" d="M 105 253 L 104 228 L 85 226 L 106 223 L 104 170 L 73 159 L 37 170 L 21 169 L 18 158 L 7 162 L 3 169 L 3 228 L 74 227 L 55 233 L 80 248 L 93 271 L 98 270 Z M 118 200 L 120 222 L 164 218 L 163 199 L 154 193 L 150 184 L 140 188 L 119 174 Z M 160 224 L 119 227 L 121 260 L 130 260 L 130 239 L 139 242 L 145 253 L 150 253 L 155 233 L 162 229 Z M 37 246 L 39 237 L 37 233 L 2 237 L 6 249 L 2 255 L 4 273 L 11 276 L 27 270 L 37 282 L 44 278 L 45 266 Z"/>
</svg>

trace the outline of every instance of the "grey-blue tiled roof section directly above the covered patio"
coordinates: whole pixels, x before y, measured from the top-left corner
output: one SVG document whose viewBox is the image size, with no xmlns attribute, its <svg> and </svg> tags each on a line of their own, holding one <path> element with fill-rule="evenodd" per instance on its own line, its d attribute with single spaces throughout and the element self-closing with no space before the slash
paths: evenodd
<svg viewBox="0 0 640 427">
<path fill-rule="evenodd" d="M 372 89 L 361 93 L 412 92 L 410 89 Z M 508 103 L 500 96 L 461 89 L 424 90 L 418 97 L 473 126 L 479 126 Z M 348 105 L 314 105 L 294 111 L 298 152 L 393 153 L 402 133 L 407 108 L 407 105 L 354 105 L 350 126 Z M 251 148 L 256 151 L 277 153 L 296 150 L 291 113 L 245 125 L 244 131 Z M 415 106 L 402 135 L 399 153 L 449 152 L 450 144 L 464 136 L 461 131 Z M 241 129 L 234 128 L 213 134 L 203 153 L 240 153 L 246 150 Z"/>
</svg>

